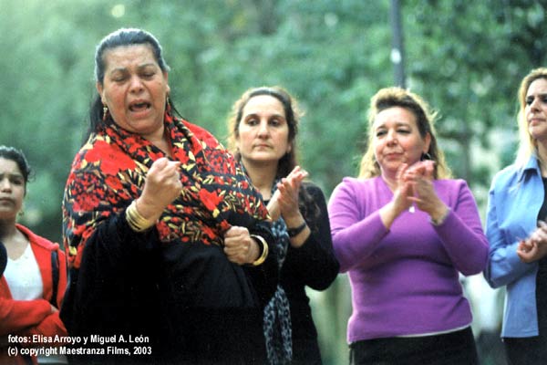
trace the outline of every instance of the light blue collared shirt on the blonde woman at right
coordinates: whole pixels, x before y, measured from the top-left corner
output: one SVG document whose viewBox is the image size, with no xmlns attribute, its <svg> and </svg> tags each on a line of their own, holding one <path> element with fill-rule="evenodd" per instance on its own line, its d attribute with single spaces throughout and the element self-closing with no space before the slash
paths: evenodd
<svg viewBox="0 0 547 365">
<path fill-rule="evenodd" d="M 543 198 L 535 156 L 523 168 L 511 165 L 498 172 L 490 187 L 486 218 L 490 254 L 484 276 L 491 287 L 507 287 L 501 337 L 539 333 L 535 294 L 539 266 L 521 262 L 517 245 L 536 229 Z"/>
</svg>

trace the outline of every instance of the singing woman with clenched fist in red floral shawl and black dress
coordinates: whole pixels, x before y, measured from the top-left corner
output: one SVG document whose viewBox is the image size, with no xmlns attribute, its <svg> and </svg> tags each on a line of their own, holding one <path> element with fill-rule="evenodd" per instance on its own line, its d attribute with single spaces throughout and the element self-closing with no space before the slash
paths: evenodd
<svg viewBox="0 0 547 365">
<path fill-rule="evenodd" d="M 88 139 L 63 201 L 61 318 L 70 335 L 115 336 L 131 355 L 71 360 L 263 363 L 262 311 L 278 273 L 260 195 L 212 134 L 174 116 L 154 36 L 119 29 L 95 64 Z M 144 354 L 129 335 L 150 341 Z"/>
</svg>

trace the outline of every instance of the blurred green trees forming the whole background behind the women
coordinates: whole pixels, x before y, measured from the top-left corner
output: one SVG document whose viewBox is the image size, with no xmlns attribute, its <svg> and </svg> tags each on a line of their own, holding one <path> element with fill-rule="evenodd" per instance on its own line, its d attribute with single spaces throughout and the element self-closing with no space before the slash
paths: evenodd
<svg viewBox="0 0 547 365">
<path fill-rule="evenodd" d="M 95 46 L 128 26 L 160 39 L 178 109 L 222 141 L 232 102 L 245 89 L 290 90 L 306 112 L 301 160 L 328 197 L 342 177 L 356 174 L 366 147 L 368 100 L 395 83 L 392 3 L 0 0 L 0 144 L 25 151 L 36 171 L 22 223 L 61 241 L 64 183 L 95 93 Z M 405 84 L 439 110 L 440 145 L 484 215 L 493 173 L 514 157 L 518 84 L 531 68 L 546 64 L 546 5 L 532 0 L 400 5 Z M 325 363 L 347 363 L 346 275 L 310 296 Z M 480 325 L 475 328 L 480 331 Z"/>
</svg>

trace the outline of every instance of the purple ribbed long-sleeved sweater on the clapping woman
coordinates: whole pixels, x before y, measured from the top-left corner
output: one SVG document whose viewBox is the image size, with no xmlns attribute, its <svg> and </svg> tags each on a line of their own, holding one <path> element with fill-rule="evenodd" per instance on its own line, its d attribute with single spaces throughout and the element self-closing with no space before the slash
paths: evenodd
<svg viewBox="0 0 547 365">
<path fill-rule="evenodd" d="M 416 209 L 399 215 L 389 230 L 378 210 L 393 193 L 381 177 L 345 178 L 332 193 L 328 211 L 335 255 L 352 288 L 348 342 L 470 324 L 458 272 L 480 273 L 489 245 L 467 183 L 437 180 L 434 186 L 450 208 L 442 224 L 431 224 L 428 214 Z"/>
</svg>

